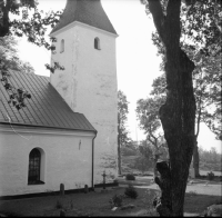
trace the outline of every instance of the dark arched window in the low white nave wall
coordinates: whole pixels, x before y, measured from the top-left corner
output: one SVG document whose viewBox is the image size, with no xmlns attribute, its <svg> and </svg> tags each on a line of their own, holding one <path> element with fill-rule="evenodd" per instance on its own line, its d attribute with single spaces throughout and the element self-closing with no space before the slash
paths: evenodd
<svg viewBox="0 0 222 218">
<path fill-rule="evenodd" d="M 41 152 L 39 149 L 34 148 L 29 153 L 29 176 L 28 185 L 43 184 L 40 180 L 41 177 Z"/>
</svg>

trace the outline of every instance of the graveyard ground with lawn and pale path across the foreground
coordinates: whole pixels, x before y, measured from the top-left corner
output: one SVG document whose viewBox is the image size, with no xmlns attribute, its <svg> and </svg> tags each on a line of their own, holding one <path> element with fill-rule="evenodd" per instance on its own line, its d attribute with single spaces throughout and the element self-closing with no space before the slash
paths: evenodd
<svg viewBox="0 0 222 218">
<path fill-rule="evenodd" d="M 125 195 L 129 185 L 137 191 L 137 198 Z M 152 182 L 152 177 L 135 176 L 135 180 L 119 177 L 118 186 L 101 186 L 94 188 L 94 191 L 80 190 L 75 194 L 65 194 L 64 190 L 46 197 L 1 200 L 0 215 L 1 217 L 150 217 L 158 216 L 152 206 L 152 200 L 158 195 L 160 191 Z M 113 204 L 114 196 L 121 198 L 118 206 Z M 221 181 L 206 184 L 206 180 L 189 179 L 184 216 L 204 216 L 209 206 L 221 202 Z"/>
</svg>

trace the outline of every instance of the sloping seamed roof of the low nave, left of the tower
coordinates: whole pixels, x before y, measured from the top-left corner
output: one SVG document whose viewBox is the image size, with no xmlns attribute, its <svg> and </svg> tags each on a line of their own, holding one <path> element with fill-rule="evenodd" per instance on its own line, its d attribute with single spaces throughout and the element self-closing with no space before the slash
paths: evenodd
<svg viewBox="0 0 222 218">
<path fill-rule="evenodd" d="M 0 123 L 95 131 L 82 113 L 73 112 L 49 82 L 49 77 L 11 72 L 10 82 L 31 93 L 27 107 L 17 110 L 8 103 L 9 93 L 0 81 Z M 9 117 L 9 118 L 8 118 Z"/>
</svg>

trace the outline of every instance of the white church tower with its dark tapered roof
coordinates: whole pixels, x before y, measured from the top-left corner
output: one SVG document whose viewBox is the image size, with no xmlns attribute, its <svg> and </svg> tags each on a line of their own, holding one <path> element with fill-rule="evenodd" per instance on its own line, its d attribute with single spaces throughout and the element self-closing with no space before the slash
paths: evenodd
<svg viewBox="0 0 222 218">
<path fill-rule="evenodd" d="M 114 178 L 118 171 L 118 34 L 100 0 L 68 0 L 50 37 L 57 40 L 51 63 L 64 67 L 51 73 L 51 85 L 70 108 L 83 113 L 98 131 L 94 182 L 102 181 L 103 170 Z"/>
</svg>

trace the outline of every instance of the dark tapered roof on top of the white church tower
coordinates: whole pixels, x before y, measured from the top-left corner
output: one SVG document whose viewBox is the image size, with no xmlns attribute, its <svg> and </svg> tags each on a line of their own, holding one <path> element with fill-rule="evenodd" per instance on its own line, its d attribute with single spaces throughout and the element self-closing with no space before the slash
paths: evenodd
<svg viewBox="0 0 222 218">
<path fill-rule="evenodd" d="M 100 0 L 68 0 L 60 21 L 51 33 L 62 29 L 73 21 L 83 22 L 117 34 Z"/>
</svg>

